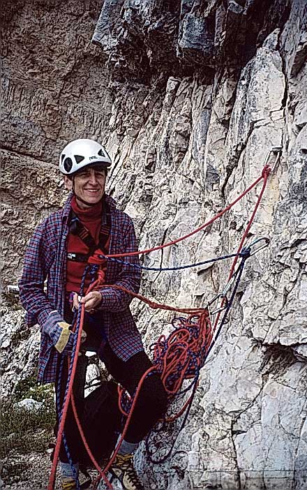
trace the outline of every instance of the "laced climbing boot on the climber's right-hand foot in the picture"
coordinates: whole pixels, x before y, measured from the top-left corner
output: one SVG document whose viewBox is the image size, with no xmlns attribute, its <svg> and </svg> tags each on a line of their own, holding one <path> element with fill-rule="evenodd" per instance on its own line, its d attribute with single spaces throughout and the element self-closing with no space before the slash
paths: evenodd
<svg viewBox="0 0 307 490">
<path fill-rule="evenodd" d="M 144 490 L 133 466 L 133 454 L 117 454 L 111 471 L 123 490 Z"/>
</svg>

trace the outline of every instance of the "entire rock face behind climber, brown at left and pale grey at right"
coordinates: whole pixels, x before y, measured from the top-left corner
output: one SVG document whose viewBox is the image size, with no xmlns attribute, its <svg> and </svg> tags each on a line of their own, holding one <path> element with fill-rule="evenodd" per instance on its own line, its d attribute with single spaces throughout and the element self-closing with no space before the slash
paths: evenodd
<svg viewBox="0 0 307 490">
<path fill-rule="evenodd" d="M 133 217 L 140 248 L 209 221 L 280 148 L 248 236 L 269 237 L 269 247 L 247 261 L 186 426 L 177 439 L 181 420 L 151 438 L 156 459 L 174 443 L 172 456 L 151 464 L 141 445 L 137 468 L 151 489 L 307 489 L 306 1 L 105 0 L 101 10 L 98 1 L 54 1 L 10 9 L 5 39 L 13 43 L 3 64 L 10 281 L 34 224 L 63 201 L 62 191 L 52 191 L 59 183 L 53 164 L 67 140 L 107 144 L 109 193 Z M 39 22 L 43 34 L 33 29 Z M 52 29 L 61 22 L 65 36 Z M 92 34 L 97 46 L 89 47 Z M 39 49 L 38 57 L 31 53 Z M 261 185 L 144 264 L 176 267 L 234 253 Z M 142 292 L 204 306 L 229 269 L 225 261 L 146 272 Z M 170 331 L 172 313 L 137 302 L 134 312 L 146 346 Z"/>
</svg>

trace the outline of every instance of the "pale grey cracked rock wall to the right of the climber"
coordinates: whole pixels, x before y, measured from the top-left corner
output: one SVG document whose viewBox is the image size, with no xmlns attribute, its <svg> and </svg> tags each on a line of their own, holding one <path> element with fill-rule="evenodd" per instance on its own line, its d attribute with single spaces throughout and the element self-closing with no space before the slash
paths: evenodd
<svg viewBox="0 0 307 490">
<path fill-rule="evenodd" d="M 116 183 L 111 182 L 114 196 L 139 224 L 144 248 L 169 242 L 207 221 L 261 174 L 273 147 L 282 149 L 249 236 L 268 236 L 271 244 L 248 262 L 231 321 L 202 369 L 188 424 L 165 463 L 152 465 L 144 445 L 138 452 L 138 468 L 150 488 L 307 488 L 306 3 L 275 3 L 275 19 L 270 18 L 271 9 L 257 17 L 262 27 L 258 24 L 254 43 L 250 34 L 250 50 L 245 53 L 250 59 L 239 70 L 244 58 L 232 57 L 239 38 L 232 36 L 230 19 L 241 15 L 238 36 L 244 34 L 242 12 L 252 3 L 227 3 L 222 19 L 225 3 L 202 8 L 202 3 L 181 2 L 178 35 L 172 38 L 177 49 L 172 53 L 177 56 L 181 49 L 184 59 L 193 58 L 195 76 L 185 77 L 186 68 L 181 65 L 180 71 L 174 61 L 157 123 L 152 128 L 149 117 L 134 135 L 128 161 L 123 159 Z M 119 29 L 119 19 L 113 31 L 106 29 L 107 6 L 119 8 L 119 2 L 105 2 L 94 34 L 117 78 L 119 50 L 123 64 L 131 57 L 123 39 L 135 18 L 144 43 L 142 56 L 144 50 L 150 53 L 141 22 L 146 8 L 137 8 L 135 2 L 134 17 L 127 20 L 132 4 L 121 2 L 118 12 L 126 22 Z M 148 2 L 146 25 L 153 18 L 151 6 Z M 210 31 L 214 14 L 215 34 Z M 248 22 L 245 25 L 248 29 Z M 213 53 L 213 36 L 218 45 L 210 64 L 214 74 L 198 68 L 199 60 L 205 66 L 204 57 Z M 228 66 L 218 68 L 220 59 Z M 148 60 L 154 72 L 157 65 L 151 64 L 151 56 Z M 123 68 L 125 75 L 133 76 L 134 61 L 128 71 Z M 123 147 L 130 145 L 130 136 L 124 136 Z M 269 163 L 273 165 L 274 158 Z M 133 193 L 122 196 L 127 179 L 134 180 Z M 234 252 L 259 192 L 258 187 L 206 232 L 151 253 L 144 263 L 172 267 Z M 147 273 L 143 289 L 167 304 L 204 305 L 225 284 L 228 270 L 223 264 Z M 147 345 L 170 331 L 172 314 L 142 305 L 135 313 Z M 179 426 L 180 422 L 151 440 L 156 459 L 174 442 Z"/>
</svg>

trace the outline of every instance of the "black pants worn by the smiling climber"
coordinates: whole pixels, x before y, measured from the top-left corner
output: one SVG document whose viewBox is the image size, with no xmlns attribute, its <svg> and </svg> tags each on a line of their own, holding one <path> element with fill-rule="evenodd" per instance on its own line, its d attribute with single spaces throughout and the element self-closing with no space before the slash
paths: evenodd
<svg viewBox="0 0 307 490">
<path fill-rule="evenodd" d="M 114 354 L 108 343 L 103 349 L 103 362 L 105 362 L 107 371 L 109 371 L 109 373 L 118 383 L 125 387 L 130 395 L 134 394 L 135 388 L 137 387 L 143 374 L 152 366 L 149 357 L 144 351 L 137 352 L 137 354 L 133 355 L 130 357 L 130 359 L 124 362 Z M 81 355 L 78 357 L 77 371 L 73 384 L 75 405 L 81 424 L 84 412 L 84 383 L 86 368 L 87 357 L 85 355 Z M 65 359 L 63 373 L 61 376 L 61 405 L 63 403 L 67 376 L 68 364 L 67 359 Z M 152 373 L 144 380 L 125 439 L 129 443 L 140 442 L 140 440 L 142 440 L 144 436 L 146 436 L 146 434 L 153 428 L 154 424 L 156 424 L 156 422 L 163 417 L 166 408 L 167 394 L 163 387 L 163 383 L 157 373 Z M 119 417 L 119 408 L 117 405 L 114 405 L 114 410 L 118 411 L 118 413 L 114 415 Z M 100 420 L 97 421 L 97 423 L 107 424 L 107 420 Z M 69 403 L 68 406 L 64 433 L 70 455 L 72 456 L 73 462 L 76 463 L 79 461 L 80 451 L 83 451 L 83 443 L 80 438 L 79 430 L 77 429 L 71 403 Z M 61 461 L 68 462 L 63 442 L 61 444 L 59 457 Z"/>
</svg>

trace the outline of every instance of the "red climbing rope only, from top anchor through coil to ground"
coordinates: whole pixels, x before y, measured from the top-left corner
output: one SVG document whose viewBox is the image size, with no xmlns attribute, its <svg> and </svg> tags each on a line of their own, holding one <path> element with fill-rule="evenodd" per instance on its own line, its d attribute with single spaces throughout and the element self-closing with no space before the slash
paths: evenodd
<svg viewBox="0 0 307 490">
<path fill-rule="evenodd" d="M 216 216 L 211 218 L 211 220 L 209 220 L 207 223 L 204 223 L 204 225 L 202 225 L 199 228 L 197 228 L 196 230 L 193 230 L 192 232 L 188 233 L 188 235 L 184 235 L 184 237 L 180 237 L 179 239 L 176 239 L 173 242 L 169 242 L 167 244 L 163 244 L 160 246 L 149 248 L 149 249 L 144 250 L 144 251 L 137 251 L 137 252 L 132 252 L 132 253 L 110 254 L 110 255 L 106 255 L 106 256 L 109 258 L 117 258 L 117 257 L 127 257 L 127 256 L 131 256 L 131 255 L 141 255 L 144 253 L 150 253 L 152 251 L 160 250 L 160 249 L 165 248 L 167 246 L 177 244 L 177 243 L 181 242 L 182 240 L 184 240 L 188 237 L 191 237 L 192 235 L 195 235 L 195 233 L 200 232 L 201 230 L 206 228 L 211 223 L 214 223 L 214 221 L 216 221 L 217 218 L 220 218 L 220 216 L 223 216 L 223 214 L 225 214 L 226 211 L 229 211 L 229 209 L 231 209 L 237 202 L 239 202 L 239 200 L 241 200 L 241 198 L 243 198 L 244 195 L 246 195 L 248 192 L 250 192 L 251 189 L 253 189 L 255 186 L 257 186 L 257 184 L 262 179 L 264 179 L 262 190 L 260 192 L 259 197 L 257 198 L 257 202 L 256 202 L 255 208 L 253 210 L 253 214 L 252 214 L 250 220 L 248 221 L 248 225 L 246 227 L 244 235 L 243 235 L 241 242 L 239 244 L 239 248 L 238 248 L 238 253 L 239 253 L 242 249 L 243 244 L 244 244 L 244 240 L 246 239 L 246 236 L 248 235 L 248 231 L 250 230 L 250 226 L 253 223 L 253 219 L 255 218 L 257 208 L 260 205 L 260 200 L 262 199 L 264 189 L 267 185 L 267 178 L 269 176 L 270 171 L 271 171 L 271 169 L 266 165 L 264 167 L 264 169 L 262 170 L 262 175 L 260 177 L 258 177 L 258 179 L 256 179 L 255 182 L 253 184 L 251 184 L 243 193 L 241 193 L 241 195 L 239 195 L 239 197 L 236 200 L 231 202 L 230 205 L 228 205 L 225 209 L 223 209 L 218 214 L 216 214 Z M 229 279 L 232 277 L 232 274 L 234 273 L 234 267 L 237 264 L 237 260 L 238 260 L 238 257 L 236 257 L 232 263 Z M 188 370 L 188 366 L 189 366 L 188 351 L 192 350 L 192 352 L 200 352 L 200 350 L 204 350 L 204 352 L 206 353 L 209 349 L 209 346 L 211 344 L 211 341 L 212 341 L 212 338 L 214 335 L 214 331 L 216 329 L 216 325 L 218 323 L 219 313 L 218 313 L 217 318 L 216 318 L 214 329 L 212 329 L 211 323 L 209 321 L 209 313 L 208 313 L 206 308 L 181 309 L 181 308 L 176 308 L 173 306 L 168 306 L 165 304 L 159 304 L 159 303 L 151 301 L 150 299 L 148 299 L 142 295 L 139 295 L 135 292 L 127 290 L 126 288 L 122 288 L 119 285 L 113 285 L 113 284 L 112 285 L 101 285 L 101 283 L 103 282 L 103 281 L 101 281 L 102 279 L 103 279 L 103 272 L 99 271 L 98 279 L 89 287 L 89 289 L 87 290 L 87 293 L 90 292 L 91 290 L 95 290 L 95 289 L 101 290 L 101 288 L 103 288 L 103 287 L 110 287 L 111 286 L 112 288 L 122 290 L 123 292 L 126 292 L 133 297 L 137 297 L 138 299 L 142 300 L 143 302 L 149 304 L 149 306 L 151 306 L 151 308 L 153 308 L 153 309 L 164 309 L 167 311 L 177 311 L 179 313 L 186 313 L 190 316 L 188 317 L 188 319 L 186 319 L 186 323 L 185 323 L 185 325 L 183 325 L 183 327 L 181 329 L 177 329 L 177 331 L 174 332 L 173 335 L 170 335 L 170 337 L 168 339 L 168 346 L 166 349 L 167 355 L 165 355 L 165 356 L 161 355 L 162 352 L 160 350 L 161 346 L 163 345 L 163 341 L 166 340 L 165 336 L 160 336 L 160 339 L 158 339 L 158 342 L 156 343 L 156 346 L 154 348 L 154 359 L 156 359 L 156 362 L 157 362 L 156 366 L 153 366 L 152 368 L 150 368 L 142 376 L 140 383 L 137 386 L 135 396 L 133 397 L 133 401 L 132 401 L 132 405 L 130 407 L 129 413 L 126 413 L 121 408 L 121 411 L 125 415 L 127 415 L 126 424 L 125 424 L 123 432 L 121 434 L 121 440 L 117 444 L 117 448 L 116 448 L 116 450 L 114 450 L 114 454 L 112 455 L 112 458 L 110 459 L 109 463 L 104 468 L 104 470 L 101 470 L 98 463 L 93 458 L 93 454 L 91 454 L 91 451 L 89 450 L 89 446 L 87 445 L 87 441 L 84 438 L 84 433 L 82 431 L 80 421 L 78 420 L 78 417 L 77 417 L 77 411 L 75 409 L 75 403 L 74 403 L 73 395 L 72 395 L 73 380 L 75 377 L 75 369 L 76 369 L 76 365 L 77 365 L 77 355 L 78 355 L 78 352 L 80 349 L 82 327 L 83 327 L 83 322 L 84 322 L 84 305 L 81 306 L 82 311 L 81 311 L 81 318 L 80 318 L 80 328 L 79 328 L 78 336 L 77 336 L 77 348 L 76 348 L 76 352 L 75 352 L 75 357 L 73 359 L 73 369 L 72 369 L 72 373 L 70 376 L 70 383 L 68 385 L 68 394 L 66 396 L 66 401 L 64 403 L 62 416 L 61 416 L 61 422 L 59 424 L 59 430 L 58 430 L 58 435 L 57 435 L 57 445 L 56 445 L 55 450 L 54 450 L 54 459 L 53 459 L 53 463 L 52 463 L 52 471 L 51 471 L 51 475 L 50 475 L 50 481 L 48 484 L 48 490 L 54 489 L 55 473 L 57 470 L 57 461 L 59 459 L 59 448 L 61 445 L 61 439 L 63 436 L 63 427 L 65 424 L 67 410 L 68 410 L 68 403 L 70 400 L 71 400 L 72 405 L 73 405 L 73 412 L 75 414 L 77 426 L 80 430 L 80 435 L 81 435 L 82 440 L 84 442 L 84 446 L 86 447 L 87 452 L 89 453 L 91 461 L 93 462 L 94 466 L 96 466 L 100 477 L 103 477 L 103 479 L 107 483 L 107 486 L 109 488 L 112 488 L 112 485 L 110 484 L 110 482 L 108 482 L 107 477 L 105 476 L 105 473 L 107 473 L 107 470 L 109 470 L 109 468 L 112 466 L 112 463 L 113 463 L 115 457 L 117 456 L 117 452 L 119 450 L 121 442 L 126 435 L 126 431 L 128 429 L 128 425 L 129 425 L 131 417 L 133 415 L 133 410 L 135 408 L 135 403 L 137 402 L 137 397 L 140 393 L 140 389 L 142 387 L 142 383 L 144 382 L 145 378 L 149 375 L 149 373 L 151 371 L 158 370 L 158 372 L 160 372 L 161 379 L 163 380 L 163 383 L 165 385 L 165 389 L 167 389 L 167 393 L 170 396 L 177 393 L 178 390 L 181 388 L 181 385 L 182 385 L 184 379 L 193 378 L 193 370 L 192 371 L 191 371 L 191 369 Z M 223 299 L 223 302 L 225 302 L 225 298 Z M 223 302 L 222 302 L 222 305 L 223 305 Z M 195 322 L 193 322 L 193 318 L 195 318 L 195 316 L 198 317 L 197 324 L 195 324 Z M 193 333 L 191 334 L 191 331 L 193 332 L 195 325 L 197 325 L 197 327 L 199 328 L 199 331 L 198 331 L 198 335 L 195 336 L 195 338 L 193 338 Z M 159 364 L 160 359 L 161 359 L 161 361 Z M 174 380 L 174 376 L 173 376 L 174 371 L 177 371 L 177 366 L 179 363 L 182 367 L 181 373 L 180 373 L 179 378 Z M 197 364 L 195 365 L 195 369 L 197 369 L 197 367 L 200 367 L 199 364 L 202 364 L 202 359 L 197 359 Z M 120 391 L 120 394 L 122 396 L 123 390 Z M 172 417 L 168 420 L 174 420 L 174 418 L 179 417 L 179 415 L 184 413 L 186 406 L 188 406 L 188 402 L 186 402 L 185 406 L 183 408 L 181 408 L 181 410 L 179 411 L 179 413 L 177 415 L 175 415 L 174 417 Z M 98 477 L 98 480 L 96 480 L 96 483 L 100 480 L 100 477 Z"/>
</svg>

